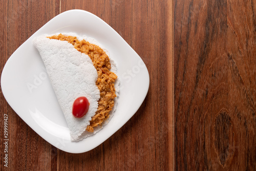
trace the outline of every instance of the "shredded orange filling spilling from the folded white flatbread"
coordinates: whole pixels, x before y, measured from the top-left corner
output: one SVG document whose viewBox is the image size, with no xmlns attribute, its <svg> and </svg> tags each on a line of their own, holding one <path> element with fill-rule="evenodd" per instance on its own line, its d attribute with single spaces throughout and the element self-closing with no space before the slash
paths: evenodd
<svg viewBox="0 0 256 171">
<path fill-rule="evenodd" d="M 114 106 L 115 93 L 115 80 L 117 76 L 115 73 L 111 72 L 111 63 L 109 56 L 97 45 L 90 44 L 86 40 L 79 41 L 76 37 L 65 36 L 62 34 L 54 35 L 48 37 L 50 39 L 57 39 L 68 41 L 72 44 L 79 52 L 87 54 L 97 70 L 98 78 L 96 81 L 96 86 L 100 92 L 100 98 L 98 101 L 98 110 L 96 114 L 92 117 L 90 125 L 87 126 L 87 131 L 93 132 L 93 127 L 100 125 L 106 118 L 109 117 L 110 111 Z"/>
</svg>

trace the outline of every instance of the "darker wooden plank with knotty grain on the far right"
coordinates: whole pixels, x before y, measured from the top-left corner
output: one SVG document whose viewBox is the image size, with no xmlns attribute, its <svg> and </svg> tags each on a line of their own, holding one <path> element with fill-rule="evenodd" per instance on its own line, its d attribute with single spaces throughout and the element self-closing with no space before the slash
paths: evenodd
<svg viewBox="0 0 256 171">
<path fill-rule="evenodd" d="M 256 170 L 255 7 L 174 2 L 176 170 Z"/>
</svg>

